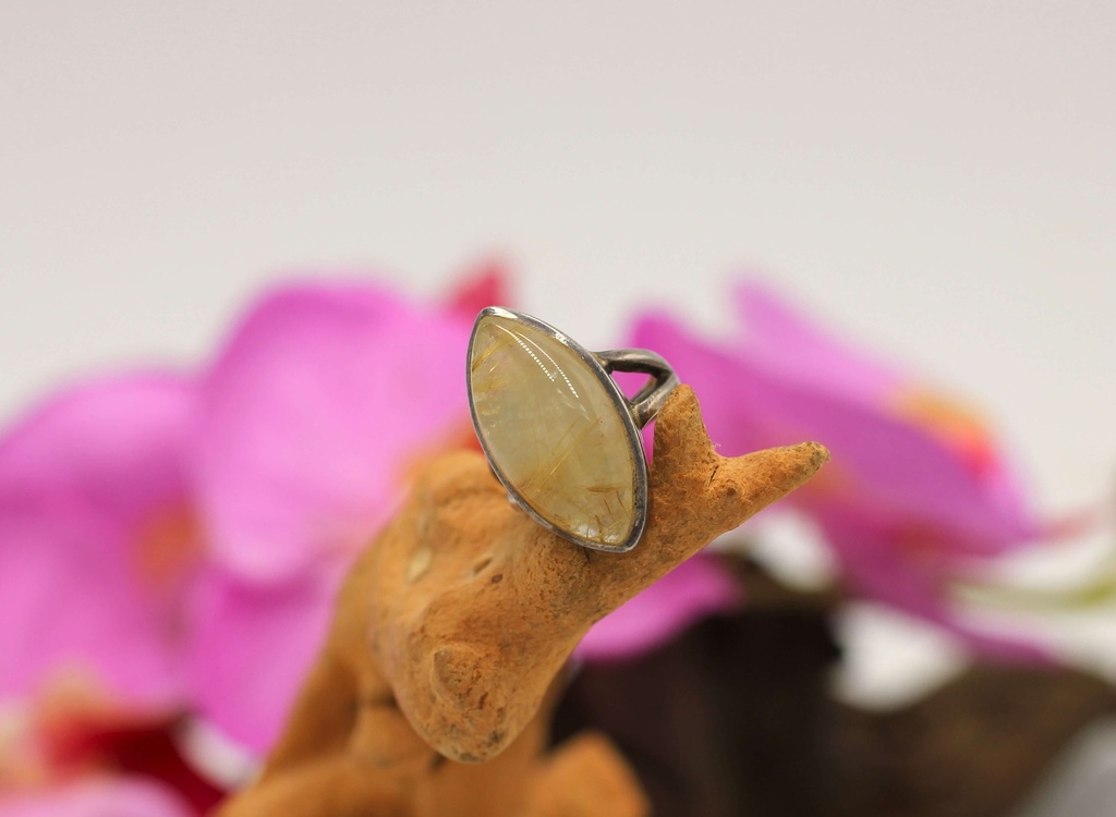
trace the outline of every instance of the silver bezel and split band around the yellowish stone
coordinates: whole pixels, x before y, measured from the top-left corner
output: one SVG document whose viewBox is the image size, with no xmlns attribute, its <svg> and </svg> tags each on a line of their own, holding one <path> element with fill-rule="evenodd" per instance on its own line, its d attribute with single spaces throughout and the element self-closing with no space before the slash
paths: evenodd
<svg viewBox="0 0 1116 817">
<path fill-rule="evenodd" d="M 484 434 L 481 432 L 481 426 L 477 417 L 477 405 L 473 400 L 471 371 L 473 344 L 477 340 L 477 329 L 481 321 L 488 317 L 501 317 L 526 324 L 561 344 L 568 350 L 573 352 L 586 365 L 586 367 L 594 374 L 597 382 L 604 387 L 605 393 L 609 396 L 613 407 L 623 421 L 624 429 L 628 438 L 628 445 L 632 451 L 633 463 L 635 465 L 635 486 L 633 498 L 635 521 L 632 526 L 632 532 L 622 544 L 604 545 L 598 541 L 585 539 L 576 534 L 571 534 L 568 530 L 559 528 L 549 520 L 542 518 L 531 507 L 530 502 L 528 502 L 527 499 L 519 493 L 519 490 L 500 468 L 500 463 L 492 456 L 492 452 L 489 451 L 488 443 L 484 439 Z M 612 372 L 639 372 L 651 375 L 652 381 L 650 381 L 647 385 L 644 386 L 638 394 L 636 394 L 635 398 L 629 401 L 620 391 L 616 381 L 612 377 Z M 477 439 L 480 441 L 481 449 L 484 452 L 484 456 L 488 459 L 492 472 L 508 491 L 508 497 L 516 503 L 516 506 L 521 508 L 532 519 L 535 519 L 535 521 L 546 529 L 554 531 L 562 539 L 593 550 L 603 550 L 614 554 L 626 552 L 634 548 L 639 542 L 644 528 L 646 527 L 648 493 L 647 460 L 643 452 L 643 436 L 639 433 L 639 430 L 655 416 L 662 407 L 662 404 L 666 401 L 666 396 L 674 388 L 674 386 L 677 385 L 677 377 L 674 375 L 671 367 L 662 357 L 653 352 L 647 352 L 645 349 L 614 349 L 609 352 L 593 353 L 583 347 L 576 340 L 573 340 L 565 333 L 559 331 L 543 320 L 539 320 L 538 318 L 527 315 L 526 313 L 497 306 L 485 307 L 477 316 L 477 320 L 473 323 L 472 333 L 469 336 L 469 349 L 465 354 L 465 388 L 469 394 L 469 414 L 472 417 L 473 431 L 477 433 Z"/>
</svg>

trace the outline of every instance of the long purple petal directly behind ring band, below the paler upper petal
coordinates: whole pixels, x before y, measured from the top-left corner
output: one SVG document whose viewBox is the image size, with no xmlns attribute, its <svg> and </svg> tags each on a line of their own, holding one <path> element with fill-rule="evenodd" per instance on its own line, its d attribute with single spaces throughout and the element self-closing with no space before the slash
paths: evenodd
<svg viewBox="0 0 1116 817">
<path fill-rule="evenodd" d="M 974 479 L 965 463 L 924 427 L 879 408 L 833 394 L 822 386 L 786 381 L 744 353 L 719 348 L 665 317 L 645 317 L 634 343 L 654 348 L 696 391 L 706 426 L 722 453 L 818 440 L 833 463 L 817 484 L 791 501 L 821 490 L 870 501 L 886 515 L 949 529 L 946 545 L 963 554 L 994 554 L 1018 546 L 1037 529 Z"/>
</svg>

